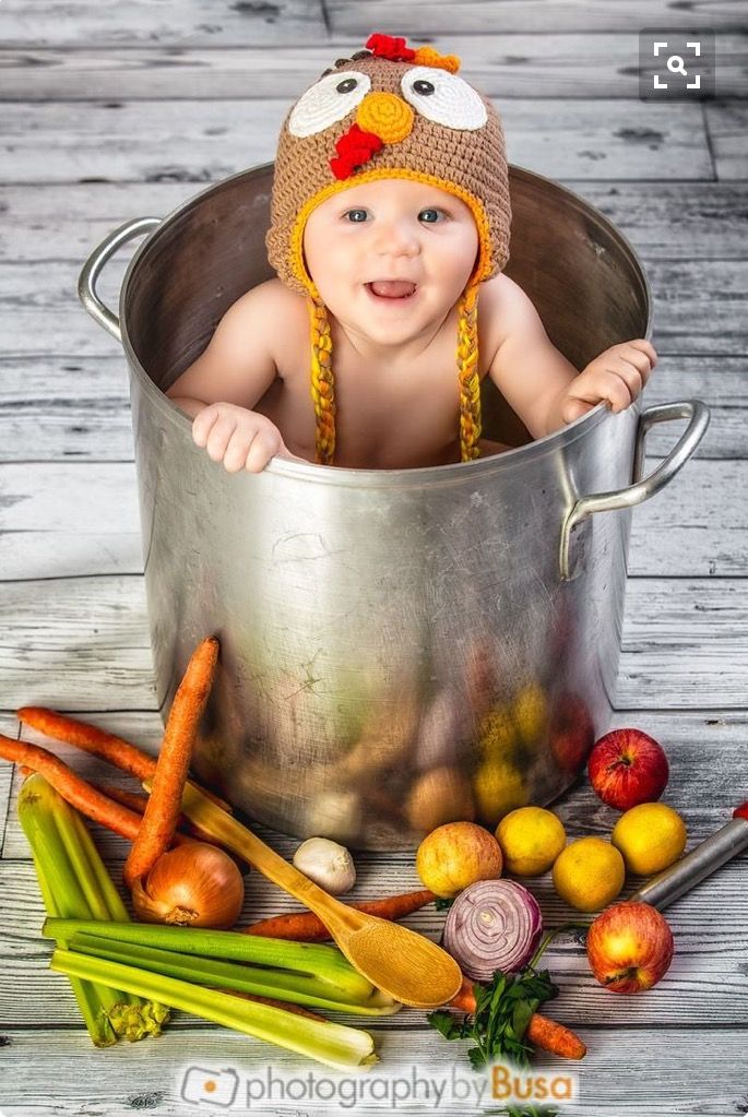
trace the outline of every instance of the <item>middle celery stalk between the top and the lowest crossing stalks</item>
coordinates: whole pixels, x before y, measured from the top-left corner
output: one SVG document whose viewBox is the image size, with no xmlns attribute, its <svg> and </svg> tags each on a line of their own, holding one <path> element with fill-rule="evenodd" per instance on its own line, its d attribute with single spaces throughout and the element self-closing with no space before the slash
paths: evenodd
<svg viewBox="0 0 748 1117">
<path fill-rule="evenodd" d="M 232 989 L 242 993 L 269 996 L 276 1001 L 290 1001 L 295 1004 L 306 1004 L 310 1008 L 327 1009 L 328 1011 L 384 1016 L 392 1015 L 402 1008 L 399 1001 L 393 1001 L 392 997 L 378 990 L 374 996 L 368 997 L 363 1003 L 336 1001 L 329 996 L 329 986 L 306 974 L 282 970 L 263 970 L 244 963 L 222 962 L 217 958 L 202 958 L 192 954 L 179 954 L 176 951 L 162 951 L 153 946 L 117 943 L 112 939 L 98 938 L 95 935 L 74 935 L 69 948 L 93 957 L 108 958 L 109 962 L 136 966 L 138 970 L 148 970 L 151 973 L 180 977 L 196 985 Z"/>
</svg>

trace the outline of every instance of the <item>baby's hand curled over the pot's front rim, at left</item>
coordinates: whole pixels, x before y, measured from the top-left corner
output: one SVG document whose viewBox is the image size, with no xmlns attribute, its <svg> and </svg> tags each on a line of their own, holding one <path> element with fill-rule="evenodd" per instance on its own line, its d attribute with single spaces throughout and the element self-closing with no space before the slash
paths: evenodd
<svg viewBox="0 0 748 1117">
<path fill-rule="evenodd" d="M 261 472 L 277 454 L 295 458 L 276 424 L 266 416 L 234 403 L 211 403 L 195 417 L 192 439 L 213 461 L 222 461 L 229 474 L 247 469 Z"/>
</svg>

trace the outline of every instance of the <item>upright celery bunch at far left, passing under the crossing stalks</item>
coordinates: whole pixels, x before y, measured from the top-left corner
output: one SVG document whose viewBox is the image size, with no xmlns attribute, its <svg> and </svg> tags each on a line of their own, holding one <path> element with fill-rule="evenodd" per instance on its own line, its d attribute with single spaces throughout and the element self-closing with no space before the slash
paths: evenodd
<svg viewBox="0 0 748 1117">
<path fill-rule="evenodd" d="M 127 911 L 106 871 L 86 824 L 55 789 L 38 774 L 29 776 L 18 798 L 18 817 L 28 839 L 45 907 L 50 916 L 112 915 Z M 96 924 L 100 926 L 100 924 Z M 96 1047 L 117 1037 L 131 1037 L 133 1015 L 144 1018 L 150 1034 L 160 1033 L 169 1013 L 107 984 L 73 986 L 81 1015 Z"/>
</svg>

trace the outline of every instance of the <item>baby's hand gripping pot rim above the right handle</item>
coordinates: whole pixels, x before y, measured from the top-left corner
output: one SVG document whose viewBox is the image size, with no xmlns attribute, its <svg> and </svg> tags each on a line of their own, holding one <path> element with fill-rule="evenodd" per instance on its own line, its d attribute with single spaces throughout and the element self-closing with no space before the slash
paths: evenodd
<svg viewBox="0 0 748 1117">
<path fill-rule="evenodd" d="M 650 379 L 656 360 L 654 346 L 643 337 L 611 345 L 569 384 L 562 403 L 562 420 L 574 422 L 602 400 L 613 411 L 625 411 Z"/>
</svg>

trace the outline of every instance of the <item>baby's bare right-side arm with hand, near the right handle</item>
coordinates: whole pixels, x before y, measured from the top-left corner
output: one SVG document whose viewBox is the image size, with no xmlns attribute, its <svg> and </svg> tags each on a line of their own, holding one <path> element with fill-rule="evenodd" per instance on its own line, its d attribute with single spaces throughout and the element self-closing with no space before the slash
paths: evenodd
<svg viewBox="0 0 748 1117">
<path fill-rule="evenodd" d="M 623 411 L 642 391 L 656 362 L 642 337 L 612 345 L 577 372 L 545 332 L 531 299 L 508 277 L 493 313 L 505 323 L 489 375 L 533 438 L 543 438 L 606 400 Z"/>
</svg>

